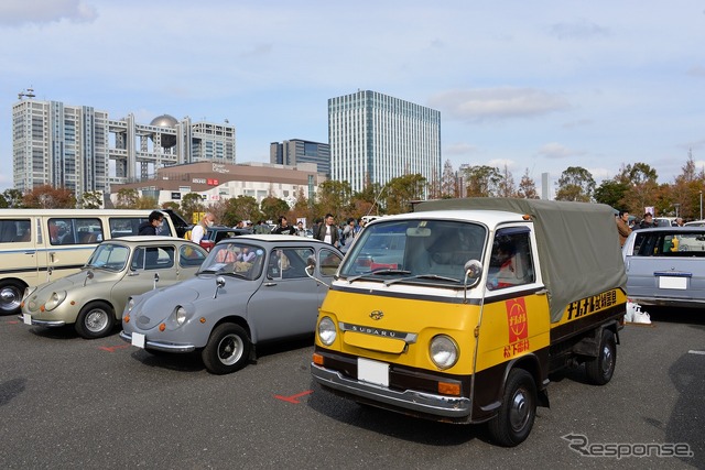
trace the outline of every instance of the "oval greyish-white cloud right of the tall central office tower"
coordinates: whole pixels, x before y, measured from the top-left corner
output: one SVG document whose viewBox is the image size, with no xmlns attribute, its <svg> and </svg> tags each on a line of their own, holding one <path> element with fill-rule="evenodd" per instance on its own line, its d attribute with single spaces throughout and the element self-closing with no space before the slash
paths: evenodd
<svg viewBox="0 0 705 470">
<path fill-rule="evenodd" d="M 535 88 L 482 88 L 449 90 L 434 95 L 429 106 L 452 119 L 482 121 L 532 118 L 570 108 L 568 101 Z"/>
</svg>

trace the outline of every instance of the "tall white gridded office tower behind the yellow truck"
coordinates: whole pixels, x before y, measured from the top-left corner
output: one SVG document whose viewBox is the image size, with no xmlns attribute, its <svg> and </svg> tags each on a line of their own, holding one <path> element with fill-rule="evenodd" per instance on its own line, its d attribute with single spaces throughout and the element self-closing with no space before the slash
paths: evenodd
<svg viewBox="0 0 705 470">
<path fill-rule="evenodd" d="M 354 192 L 405 174 L 441 178 L 441 112 L 377 91 L 328 99 L 330 177 Z"/>
</svg>

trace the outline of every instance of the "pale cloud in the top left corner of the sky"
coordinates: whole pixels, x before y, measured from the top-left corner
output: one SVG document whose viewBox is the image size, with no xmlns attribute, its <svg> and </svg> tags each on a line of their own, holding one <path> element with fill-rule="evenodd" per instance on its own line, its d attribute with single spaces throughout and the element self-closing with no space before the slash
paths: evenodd
<svg viewBox="0 0 705 470">
<path fill-rule="evenodd" d="M 83 0 L 2 0 L 0 2 L 0 25 L 22 26 L 25 24 L 54 23 L 61 20 L 91 22 L 98 18 L 93 4 Z"/>
</svg>

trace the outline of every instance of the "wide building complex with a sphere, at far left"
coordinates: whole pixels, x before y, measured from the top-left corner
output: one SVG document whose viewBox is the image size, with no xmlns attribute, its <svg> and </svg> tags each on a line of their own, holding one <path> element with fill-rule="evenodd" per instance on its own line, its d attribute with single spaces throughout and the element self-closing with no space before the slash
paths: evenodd
<svg viewBox="0 0 705 470">
<path fill-rule="evenodd" d="M 26 99 L 22 99 L 25 97 Z M 144 179 L 163 166 L 235 163 L 235 127 L 163 114 L 149 124 L 109 119 L 89 106 L 20 96 L 12 107 L 14 187 L 66 187 L 77 196 Z"/>
</svg>

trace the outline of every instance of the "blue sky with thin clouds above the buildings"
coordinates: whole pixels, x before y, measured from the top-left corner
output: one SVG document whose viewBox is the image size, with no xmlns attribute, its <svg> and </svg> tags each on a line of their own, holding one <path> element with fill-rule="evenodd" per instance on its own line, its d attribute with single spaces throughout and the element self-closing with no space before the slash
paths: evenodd
<svg viewBox="0 0 705 470">
<path fill-rule="evenodd" d="M 327 100 L 358 89 L 441 111 L 442 159 L 568 166 L 599 182 L 644 162 L 660 183 L 688 149 L 705 166 L 705 1 L 0 2 L 0 189 L 12 105 L 169 113 L 237 130 L 237 161 L 270 142 L 327 142 Z"/>
</svg>

